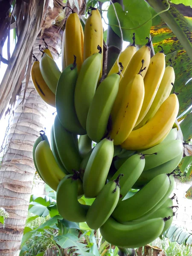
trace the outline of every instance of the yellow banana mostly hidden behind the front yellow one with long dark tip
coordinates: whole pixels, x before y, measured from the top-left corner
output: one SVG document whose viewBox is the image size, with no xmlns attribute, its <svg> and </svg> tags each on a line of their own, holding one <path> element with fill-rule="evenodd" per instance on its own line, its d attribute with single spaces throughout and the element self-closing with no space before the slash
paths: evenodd
<svg viewBox="0 0 192 256">
<path fill-rule="evenodd" d="M 119 83 L 119 90 L 118 94 L 115 100 L 115 103 L 113 105 L 113 109 L 111 111 L 112 119 L 116 117 L 117 112 L 119 111 L 119 106 L 122 102 L 122 97 L 124 95 L 125 87 L 129 83 L 131 79 L 134 78 L 136 74 L 140 72 L 141 69 L 141 61 L 144 60 L 144 67 L 146 67 L 145 70 L 142 72 L 143 78 L 145 77 L 145 74 L 148 70 L 148 65 L 150 63 L 150 41 L 143 47 L 141 47 L 131 58 L 131 61 L 128 64 L 128 67 L 125 70 L 124 76 L 121 79 Z"/>
</svg>

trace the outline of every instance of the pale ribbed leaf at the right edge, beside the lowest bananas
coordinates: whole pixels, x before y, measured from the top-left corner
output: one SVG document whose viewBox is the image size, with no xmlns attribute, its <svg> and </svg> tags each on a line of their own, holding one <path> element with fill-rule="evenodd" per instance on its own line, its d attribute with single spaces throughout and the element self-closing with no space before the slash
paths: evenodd
<svg viewBox="0 0 192 256">
<path fill-rule="evenodd" d="M 192 234 L 176 224 L 172 224 L 164 233 L 164 236 L 169 238 L 170 241 L 177 242 L 178 244 L 192 245 Z"/>
</svg>

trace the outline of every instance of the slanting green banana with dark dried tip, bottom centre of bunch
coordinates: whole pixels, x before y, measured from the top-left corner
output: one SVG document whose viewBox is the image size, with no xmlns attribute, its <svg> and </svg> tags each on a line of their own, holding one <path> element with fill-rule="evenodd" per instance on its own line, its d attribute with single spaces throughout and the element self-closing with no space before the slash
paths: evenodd
<svg viewBox="0 0 192 256">
<path fill-rule="evenodd" d="M 108 220 L 119 201 L 119 175 L 116 180 L 107 183 L 90 206 L 86 222 L 94 230 L 99 229 Z"/>
</svg>

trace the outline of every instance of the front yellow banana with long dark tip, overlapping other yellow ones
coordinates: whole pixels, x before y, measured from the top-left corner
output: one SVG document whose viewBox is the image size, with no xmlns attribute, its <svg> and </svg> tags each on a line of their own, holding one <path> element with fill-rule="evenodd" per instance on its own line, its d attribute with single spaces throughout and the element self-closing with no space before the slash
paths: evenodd
<svg viewBox="0 0 192 256">
<path fill-rule="evenodd" d="M 139 73 L 125 87 L 119 111 L 112 117 L 110 137 L 114 145 L 123 143 L 133 130 L 142 108 L 144 94 L 143 76 Z"/>
</svg>

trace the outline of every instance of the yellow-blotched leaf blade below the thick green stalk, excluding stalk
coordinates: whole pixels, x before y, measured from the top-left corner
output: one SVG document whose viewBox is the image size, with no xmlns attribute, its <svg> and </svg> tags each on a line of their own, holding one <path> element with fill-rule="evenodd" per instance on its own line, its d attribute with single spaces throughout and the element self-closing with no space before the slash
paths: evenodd
<svg viewBox="0 0 192 256">
<path fill-rule="evenodd" d="M 170 65 L 169 59 L 172 59 L 175 70 L 175 92 L 179 93 L 180 108 L 178 116 L 180 116 L 181 113 L 192 105 L 192 80 L 189 81 L 192 78 L 192 61 L 164 22 L 151 27 L 151 36 L 154 37 L 152 41 L 155 52 L 159 51 L 157 49 L 158 45 L 163 47 L 166 54 L 166 65 Z"/>
</svg>

